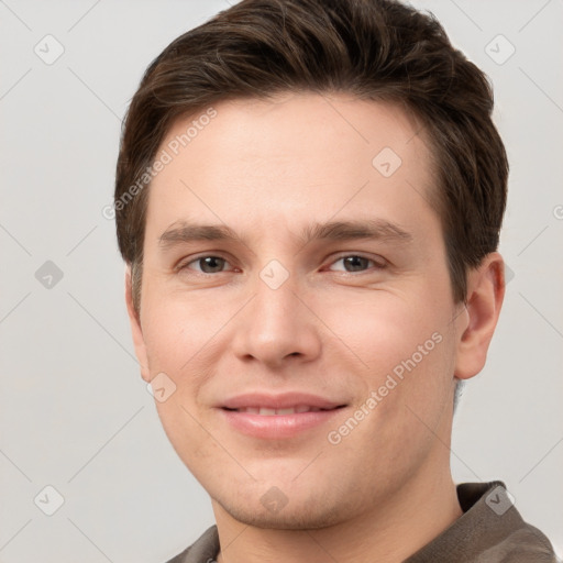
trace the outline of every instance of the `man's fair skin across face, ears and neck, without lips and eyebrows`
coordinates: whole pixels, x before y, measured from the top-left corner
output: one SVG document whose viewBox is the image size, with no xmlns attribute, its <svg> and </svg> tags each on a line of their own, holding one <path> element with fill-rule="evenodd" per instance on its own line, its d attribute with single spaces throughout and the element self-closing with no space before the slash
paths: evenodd
<svg viewBox="0 0 563 563">
<path fill-rule="evenodd" d="M 212 499 L 219 561 L 402 561 L 462 514 L 450 471 L 454 377 L 483 368 L 503 258 L 487 255 L 468 274 L 466 303 L 453 301 L 429 205 L 428 143 L 399 107 L 288 93 L 214 108 L 150 187 L 140 316 L 125 274 L 142 376 L 164 372 L 176 385 L 156 407 Z M 162 147 L 191 120 L 176 122 Z M 384 147 L 402 161 L 389 177 L 372 165 Z M 301 236 L 316 222 L 364 220 L 410 236 Z M 180 221 L 228 225 L 242 241 L 165 250 L 161 236 Z M 225 262 L 205 269 L 209 261 L 196 258 L 206 255 Z M 357 255 L 367 260 L 343 260 Z M 260 277 L 272 260 L 289 276 L 277 289 Z M 330 443 L 328 433 L 435 333 L 440 343 Z M 346 407 L 291 439 L 257 439 L 216 408 L 251 390 L 313 393 Z M 287 500 L 278 511 L 261 503 L 272 487 Z"/>
</svg>

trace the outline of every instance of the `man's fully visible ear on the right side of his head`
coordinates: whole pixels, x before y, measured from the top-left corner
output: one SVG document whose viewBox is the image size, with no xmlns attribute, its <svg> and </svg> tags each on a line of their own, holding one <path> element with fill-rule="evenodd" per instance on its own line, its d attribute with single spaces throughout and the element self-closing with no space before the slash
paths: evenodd
<svg viewBox="0 0 563 563">
<path fill-rule="evenodd" d="M 483 369 L 504 297 L 505 263 L 498 252 L 493 252 L 467 274 L 467 300 L 459 318 L 454 372 L 459 379 L 468 379 Z"/>
</svg>

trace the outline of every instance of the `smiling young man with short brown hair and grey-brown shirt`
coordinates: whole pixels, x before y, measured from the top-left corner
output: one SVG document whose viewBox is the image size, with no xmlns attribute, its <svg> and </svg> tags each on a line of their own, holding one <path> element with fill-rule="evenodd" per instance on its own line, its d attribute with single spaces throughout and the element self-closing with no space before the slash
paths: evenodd
<svg viewBox="0 0 563 563">
<path fill-rule="evenodd" d="M 118 240 L 142 376 L 217 526 L 173 562 L 553 562 L 455 485 L 455 389 L 504 298 L 486 77 L 388 0 L 245 0 L 125 120 Z"/>
</svg>

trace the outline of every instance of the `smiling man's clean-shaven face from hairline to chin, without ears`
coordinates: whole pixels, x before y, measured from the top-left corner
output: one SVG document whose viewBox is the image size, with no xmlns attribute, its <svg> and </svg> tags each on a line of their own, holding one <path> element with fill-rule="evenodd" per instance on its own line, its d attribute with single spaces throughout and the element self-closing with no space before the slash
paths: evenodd
<svg viewBox="0 0 563 563">
<path fill-rule="evenodd" d="M 261 527 L 349 520 L 449 467 L 460 308 L 428 148 L 400 109 L 350 96 L 214 109 L 185 147 L 198 115 L 161 146 L 143 376 L 176 386 L 158 413 L 216 509 Z M 289 410 L 256 411 L 275 405 Z M 290 410 L 311 406 L 329 410 Z"/>
</svg>

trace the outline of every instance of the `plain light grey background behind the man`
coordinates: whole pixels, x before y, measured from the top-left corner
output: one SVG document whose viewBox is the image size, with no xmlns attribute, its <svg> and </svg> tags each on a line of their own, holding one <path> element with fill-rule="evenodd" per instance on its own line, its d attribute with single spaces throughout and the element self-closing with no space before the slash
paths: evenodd
<svg viewBox="0 0 563 563">
<path fill-rule="evenodd" d="M 415 4 L 492 78 L 511 163 L 500 250 L 514 277 L 488 364 L 455 417 L 454 478 L 504 479 L 563 553 L 563 2 Z M 225 8 L 0 0 L 2 563 L 157 563 L 213 523 L 139 375 L 102 209 L 143 70 Z M 56 54 L 47 34 L 64 47 L 51 65 L 34 52 Z M 64 497 L 53 516 L 47 485 Z"/>
</svg>

